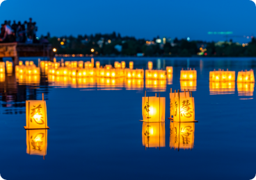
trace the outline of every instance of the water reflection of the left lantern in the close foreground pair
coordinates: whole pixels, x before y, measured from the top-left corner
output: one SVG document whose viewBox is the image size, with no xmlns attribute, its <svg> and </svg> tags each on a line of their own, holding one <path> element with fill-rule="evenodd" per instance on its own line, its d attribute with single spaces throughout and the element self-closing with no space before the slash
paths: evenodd
<svg viewBox="0 0 256 180">
<path fill-rule="evenodd" d="M 143 122 L 142 144 L 146 147 L 166 147 L 165 123 Z"/>
</svg>

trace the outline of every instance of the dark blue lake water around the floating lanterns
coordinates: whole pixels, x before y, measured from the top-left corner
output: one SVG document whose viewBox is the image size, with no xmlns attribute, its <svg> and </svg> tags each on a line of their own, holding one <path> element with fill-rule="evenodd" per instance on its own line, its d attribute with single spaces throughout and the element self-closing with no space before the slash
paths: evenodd
<svg viewBox="0 0 256 180">
<path fill-rule="evenodd" d="M 66 60 L 66 59 L 65 59 Z M 83 59 L 84 60 L 84 59 Z M 88 59 L 89 60 L 89 59 Z M 101 64 L 115 60 L 97 59 Z M 127 62 L 133 59 L 125 59 Z M 256 176 L 256 105 L 253 84 L 209 84 L 209 71 L 256 70 L 256 59 L 134 59 L 134 68 L 173 66 L 173 80 L 128 82 L 79 80 L 57 83 L 0 82 L 0 177 L 3 179 L 253 179 Z M 86 60 L 85 60 L 86 61 Z M 35 63 L 37 60 L 35 60 Z M 180 89 L 182 68 L 195 68 L 195 123 L 191 138 L 173 147 L 170 131 L 170 88 Z M 101 84 L 102 83 L 102 84 Z M 112 84 L 111 84 L 112 83 Z M 141 82 L 140 82 L 141 83 Z M 152 85 L 152 83 L 158 83 Z M 239 86 L 239 88 L 238 88 Z M 143 136 L 141 97 L 144 91 L 166 97 L 166 122 L 159 138 Z M 27 154 L 26 100 L 45 93 L 50 127 L 43 156 Z M 29 135 L 30 136 L 30 135 Z M 28 137 L 29 138 L 29 137 Z M 143 140 L 144 138 L 144 140 Z M 192 144 L 192 141 L 194 145 Z M 160 148 L 159 148 L 160 146 Z M 184 150 L 182 147 L 186 147 Z M 37 147 L 35 147 L 36 149 Z M 31 149 L 29 149 L 31 150 Z M 33 150 L 31 150 L 33 151 Z M 41 155 L 45 149 L 41 149 Z"/>
</svg>

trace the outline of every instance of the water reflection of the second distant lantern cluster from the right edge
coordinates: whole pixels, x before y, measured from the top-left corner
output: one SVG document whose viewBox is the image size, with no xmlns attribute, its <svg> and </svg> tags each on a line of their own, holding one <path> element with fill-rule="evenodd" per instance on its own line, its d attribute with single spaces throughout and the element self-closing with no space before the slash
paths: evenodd
<svg viewBox="0 0 256 180">
<path fill-rule="evenodd" d="M 209 82 L 210 95 L 230 94 L 235 91 L 235 82 Z"/>
</svg>

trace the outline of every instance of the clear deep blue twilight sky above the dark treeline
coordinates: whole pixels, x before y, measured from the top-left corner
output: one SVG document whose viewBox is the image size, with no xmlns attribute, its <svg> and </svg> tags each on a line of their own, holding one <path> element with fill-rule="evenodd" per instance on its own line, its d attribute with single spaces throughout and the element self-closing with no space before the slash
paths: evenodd
<svg viewBox="0 0 256 180">
<path fill-rule="evenodd" d="M 191 40 L 225 40 L 208 31 L 232 31 L 233 35 L 256 35 L 256 4 L 252 0 L 5 0 L 0 22 L 25 21 L 38 25 L 38 36 L 120 33 L 152 39 L 190 37 Z M 230 37 L 228 37 L 230 39 Z M 232 37 L 236 42 L 248 39 Z"/>
</svg>

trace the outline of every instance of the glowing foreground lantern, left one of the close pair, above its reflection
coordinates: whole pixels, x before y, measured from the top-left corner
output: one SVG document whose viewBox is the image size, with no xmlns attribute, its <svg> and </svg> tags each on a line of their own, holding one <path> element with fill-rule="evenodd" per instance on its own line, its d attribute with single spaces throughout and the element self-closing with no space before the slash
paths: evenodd
<svg viewBox="0 0 256 180">
<path fill-rule="evenodd" d="M 142 114 L 144 122 L 164 122 L 166 116 L 166 98 L 148 96 L 142 98 Z"/>
</svg>

